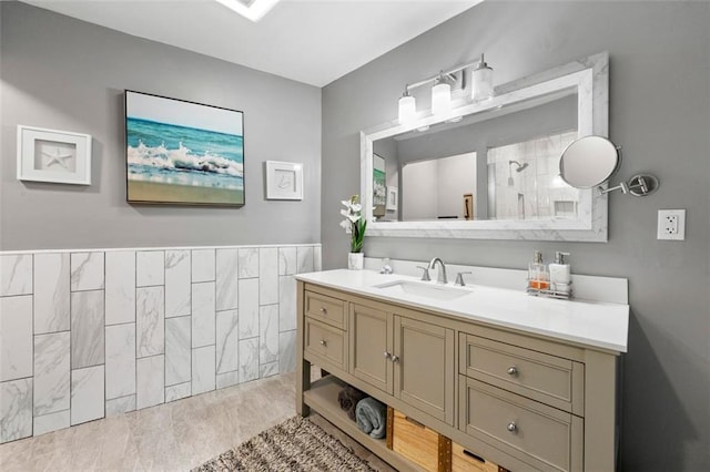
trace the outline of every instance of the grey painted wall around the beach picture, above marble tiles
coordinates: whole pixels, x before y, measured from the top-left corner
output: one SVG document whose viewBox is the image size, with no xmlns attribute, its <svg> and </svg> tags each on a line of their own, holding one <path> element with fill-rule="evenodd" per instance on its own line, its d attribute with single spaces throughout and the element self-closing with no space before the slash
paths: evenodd
<svg viewBox="0 0 710 472">
<path fill-rule="evenodd" d="M 0 249 L 320 240 L 320 89 L 23 3 L 0 9 Z M 124 89 L 243 111 L 246 205 L 128 205 Z M 16 181 L 18 124 L 91 134 L 92 185 Z M 303 202 L 264 199 L 267 160 L 304 164 Z"/>
</svg>

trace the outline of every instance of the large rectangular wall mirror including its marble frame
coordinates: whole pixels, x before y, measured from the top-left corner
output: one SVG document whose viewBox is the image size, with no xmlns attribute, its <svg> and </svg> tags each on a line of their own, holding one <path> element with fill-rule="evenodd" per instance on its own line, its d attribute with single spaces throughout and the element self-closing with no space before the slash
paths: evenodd
<svg viewBox="0 0 710 472">
<path fill-rule="evenodd" d="M 368 236 L 606 242 L 608 197 L 568 185 L 559 160 L 577 138 L 608 135 L 608 65 L 595 54 L 363 131 Z M 383 205 L 387 188 L 396 205 Z"/>
</svg>

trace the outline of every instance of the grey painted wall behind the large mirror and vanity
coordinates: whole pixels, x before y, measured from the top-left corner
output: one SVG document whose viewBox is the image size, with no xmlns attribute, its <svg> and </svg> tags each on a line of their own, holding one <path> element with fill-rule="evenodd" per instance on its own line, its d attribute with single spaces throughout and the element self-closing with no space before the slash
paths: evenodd
<svg viewBox="0 0 710 472">
<path fill-rule="evenodd" d="M 577 274 L 629 278 L 620 466 L 710 470 L 710 3 L 486 1 L 323 90 L 324 267 L 344 267 L 339 201 L 359 192 L 358 131 L 393 120 L 402 88 L 485 52 L 495 83 L 610 53 L 619 176 L 661 179 L 610 197 L 609 243 L 366 238 L 368 256 L 525 268 L 571 253 Z M 422 103 L 420 106 L 426 106 Z M 687 239 L 659 242 L 659 208 L 687 208 Z M 474 275 L 475 279 L 475 275 Z"/>
</svg>

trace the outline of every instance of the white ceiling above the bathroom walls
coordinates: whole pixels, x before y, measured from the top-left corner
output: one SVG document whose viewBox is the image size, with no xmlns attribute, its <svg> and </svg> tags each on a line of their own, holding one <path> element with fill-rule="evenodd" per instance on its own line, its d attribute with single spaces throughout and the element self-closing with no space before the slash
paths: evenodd
<svg viewBox="0 0 710 472">
<path fill-rule="evenodd" d="M 282 0 L 254 23 L 212 0 L 24 0 L 324 86 L 483 0 Z"/>
</svg>

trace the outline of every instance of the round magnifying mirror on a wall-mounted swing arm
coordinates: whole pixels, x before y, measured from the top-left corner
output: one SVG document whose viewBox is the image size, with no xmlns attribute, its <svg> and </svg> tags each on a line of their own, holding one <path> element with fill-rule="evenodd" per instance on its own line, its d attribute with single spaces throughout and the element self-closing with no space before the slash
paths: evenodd
<svg viewBox="0 0 710 472">
<path fill-rule="evenodd" d="M 575 188 L 594 188 L 617 171 L 619 150 L 601 136 L 585 136 L 571 143 L 559 160 L 559 175 Z"/>
</svg>

